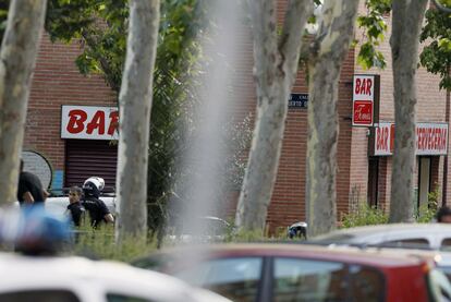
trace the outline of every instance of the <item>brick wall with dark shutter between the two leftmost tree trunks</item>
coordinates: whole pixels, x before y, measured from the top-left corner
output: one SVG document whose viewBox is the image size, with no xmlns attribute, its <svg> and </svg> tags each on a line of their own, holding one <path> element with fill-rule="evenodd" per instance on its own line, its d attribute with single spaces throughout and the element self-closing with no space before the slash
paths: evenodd
<svg viewBox="0 0 451 302">
<path fill-rule="evenodd" d="M 81 185 L 85 176 L 101 170 L 107 186 L 114 185 L 117 147 L 109 140 L 61 138 L 63 106 L 114 107 L 115 94 L 99 76 L 84 76 L 75 65 L 76 43 L 52 44 L 42 36 L 28 101 L 24 150 L 36 152 L 52 170 L 51 188 Z M 37 157 L 32 157 L 33 164 Z M 25 160 L 25 168 L 34 167 Z M 36 171 L 41 174 L 41 171 Z"/>
</svg>

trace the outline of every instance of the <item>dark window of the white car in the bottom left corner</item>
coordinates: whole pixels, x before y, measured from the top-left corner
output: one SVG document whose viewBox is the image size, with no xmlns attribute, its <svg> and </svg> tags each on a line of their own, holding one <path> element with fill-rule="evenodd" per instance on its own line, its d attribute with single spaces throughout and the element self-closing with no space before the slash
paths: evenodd
<svg viewBox="0 0 451 302">
<path fill-rule="evenodd" d="M 0 293 L 0 302 L 80 302 L 69 290 L 22 290 Z"/>
</svg>

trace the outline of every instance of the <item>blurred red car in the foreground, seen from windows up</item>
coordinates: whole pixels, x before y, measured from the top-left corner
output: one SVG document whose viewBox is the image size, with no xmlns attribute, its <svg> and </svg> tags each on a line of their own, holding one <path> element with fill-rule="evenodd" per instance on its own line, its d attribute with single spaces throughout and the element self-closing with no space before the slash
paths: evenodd
<svg viewBox="0 0 451 302">
<path fill-rule="evenodd" d="M 132 264 L 232 301 L 443 301 L 436 282 L 440 273 L 425 258 L 302 244 L 204 249 L 163 251 Z"/>
</svg>

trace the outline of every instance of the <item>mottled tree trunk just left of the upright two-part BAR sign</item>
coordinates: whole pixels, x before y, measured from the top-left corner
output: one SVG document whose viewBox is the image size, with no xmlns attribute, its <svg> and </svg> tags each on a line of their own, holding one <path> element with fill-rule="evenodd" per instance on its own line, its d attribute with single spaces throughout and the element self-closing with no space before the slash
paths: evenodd
<svg viewBox="0 0 451 302">
<path fill-rule="evenodd" d="M 358 0 L 325 1 L 309 60 L 306 185 L 309 235 L 336 228 L 338 86 L 354 34 L 357 5 Z"/>
</svg>

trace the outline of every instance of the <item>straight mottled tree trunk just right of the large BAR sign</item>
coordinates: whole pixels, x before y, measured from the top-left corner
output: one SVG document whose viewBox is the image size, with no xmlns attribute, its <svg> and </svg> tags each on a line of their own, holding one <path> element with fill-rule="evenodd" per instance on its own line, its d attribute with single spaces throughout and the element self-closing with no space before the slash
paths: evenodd
<svg viewBox="0 0 451 302">
<path fill-rule="evenodd" d="M 131 0 L 120 102 L 117 238 L 147 230 L 147 161 L 159 0 Z"/>
</svg>

